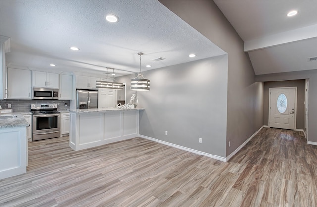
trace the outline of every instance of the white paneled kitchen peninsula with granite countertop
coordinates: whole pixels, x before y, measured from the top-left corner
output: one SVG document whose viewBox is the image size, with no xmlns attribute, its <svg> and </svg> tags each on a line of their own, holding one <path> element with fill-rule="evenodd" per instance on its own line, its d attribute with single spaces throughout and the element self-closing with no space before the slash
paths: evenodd
<svg viewBox="0 0 317 207">
<path fill-rule="evenodd" d="M 70 110 L 69 146 L 77 151 L 138 136 L 140 110 Z"/>
</svg>

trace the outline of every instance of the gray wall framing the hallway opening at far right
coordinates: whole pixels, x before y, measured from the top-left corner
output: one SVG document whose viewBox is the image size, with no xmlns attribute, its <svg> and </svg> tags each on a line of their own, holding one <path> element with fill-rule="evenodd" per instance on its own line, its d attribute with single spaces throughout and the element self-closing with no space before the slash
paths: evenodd
<svg viewBox="0 0 317 207">
<path fill-rule="evenodd" d="M 256 76 L 257 81 L 281 81 L 298 79 L 309 79 L 307 140 L 311 142 L 317 142 L 317 69 Z"/>
</svg>

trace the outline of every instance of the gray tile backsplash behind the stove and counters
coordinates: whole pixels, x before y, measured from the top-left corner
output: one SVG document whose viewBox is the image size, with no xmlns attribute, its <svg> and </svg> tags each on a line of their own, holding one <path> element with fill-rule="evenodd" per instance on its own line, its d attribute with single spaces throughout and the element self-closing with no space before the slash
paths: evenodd
<svg viewBox="0 0 317 207">
<path fill-rule="evenodd" d="M 0 100 L 0 105 L 2 109 L 8 108 L 8 104 L 11 104 L 13 113 L 15 112 L 30 112 L 31 104 L 57 104 L 57 110 L 67 110 L 69 109 L 69 100 L 23 100 L 23 99 L 6 99 Z M 67 103 L 67 106 L 65 106 Z"/>
</svg>

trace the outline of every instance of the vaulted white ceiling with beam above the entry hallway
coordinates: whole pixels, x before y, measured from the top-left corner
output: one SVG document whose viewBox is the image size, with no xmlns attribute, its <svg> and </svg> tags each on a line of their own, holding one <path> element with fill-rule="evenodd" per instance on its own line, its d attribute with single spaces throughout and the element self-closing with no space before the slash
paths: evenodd
<svg viewBox="0 0 317 207">
<path fill-rule="evenodd" d="M 317 0 L 214 0 L 256 75 L 317 69 Z M 287 17 L 291 10 L 298 14 Z"/>
</svg>

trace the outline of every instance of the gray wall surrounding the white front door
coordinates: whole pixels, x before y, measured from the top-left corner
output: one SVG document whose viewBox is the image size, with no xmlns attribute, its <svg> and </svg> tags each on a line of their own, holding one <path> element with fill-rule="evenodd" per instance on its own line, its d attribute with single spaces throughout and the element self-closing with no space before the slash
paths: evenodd
<svg viewBox="0 0 317 207">
<path fill-rule="evenodd" d="M 297 86 L 296 129 L 304 129 L 305 80 L 264 82 L 263 124 L 268 125 L 269 88 Z"/>
</svg>

